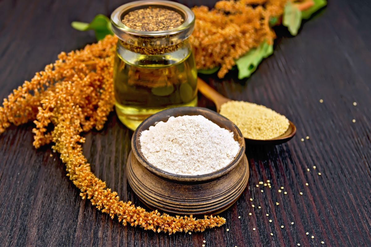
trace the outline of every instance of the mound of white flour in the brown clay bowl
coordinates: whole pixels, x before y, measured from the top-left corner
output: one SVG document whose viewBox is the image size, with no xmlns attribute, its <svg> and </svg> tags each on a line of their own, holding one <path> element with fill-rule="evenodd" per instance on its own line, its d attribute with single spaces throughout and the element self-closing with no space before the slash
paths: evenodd
<svg viewBox="0 0 371 247">
<path fill-rule="evenodd" d="M 240 150 L 233 133 L 203 116 L 170 117 L 139 137 L 149 163 L 173 174 L 201 175 L 227 166 Z"/>
</svg>

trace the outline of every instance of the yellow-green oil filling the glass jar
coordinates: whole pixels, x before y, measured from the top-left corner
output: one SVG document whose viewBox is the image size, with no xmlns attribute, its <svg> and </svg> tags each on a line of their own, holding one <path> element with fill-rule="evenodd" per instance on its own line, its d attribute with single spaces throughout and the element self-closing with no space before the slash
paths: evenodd
<svg viewBox="0 0 371 247">
<path fill-rule="evenodd" d="M 184 53 L 187 54 L 187 53 Z M 115 109 L 131 130 L 158 111 L 197 106 L 197 70 L 191 52 L 185 57 L 137 55 L 114 65 Z"/>
</svg>

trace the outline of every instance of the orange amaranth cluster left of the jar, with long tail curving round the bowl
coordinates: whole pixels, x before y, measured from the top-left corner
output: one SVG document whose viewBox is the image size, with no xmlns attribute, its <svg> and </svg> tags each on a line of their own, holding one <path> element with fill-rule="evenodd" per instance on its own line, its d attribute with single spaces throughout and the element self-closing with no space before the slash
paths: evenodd
<svg viewBox="0 0 371 247">
<path fill-rule="evenodd" d="M 66 164 L 70 180 L 81 190 L 81 197 L 126 226 L 139 226 L 145 230 L 163 231 L 169 234 L 178 231 L 203 231 L 221 226 L 225 219 L 219 216 L 173 217 L 148 212 L 123 202 L 117 192 L 91 171 L 90 164 L 82 154 L 80 134 L 92 128 L 101 129 L 112 110 L 113 60 L 117 38 L 106 36 L 83 50 L 60 53 L 54 64 L 36 73 L 31 81 L 14 90 L 3 107 L 0 107 L 0 133 L 11 123 L 19 125 L 33 120 L 36 128 L 33 145 L 38 148 L 55 143 L 53 151 L 60 153 Z M 52 130 L 50 130 L 52 128 Z"/>
</svg>

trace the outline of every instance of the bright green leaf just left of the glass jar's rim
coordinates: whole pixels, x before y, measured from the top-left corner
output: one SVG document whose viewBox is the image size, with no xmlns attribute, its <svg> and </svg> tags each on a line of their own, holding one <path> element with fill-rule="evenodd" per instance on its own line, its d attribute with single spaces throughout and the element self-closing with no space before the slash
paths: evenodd
<svg viewBox="0 0 371 247">
<path fill-rule="evenodd" d="M 103 39 L 107 34 L 113 34 L 111 21 L 103 14 L 95 16 L 91 23 L 73 21 L 71 26 L 79 31 L 94 30 L 97 40 Z"/>
</svg>

